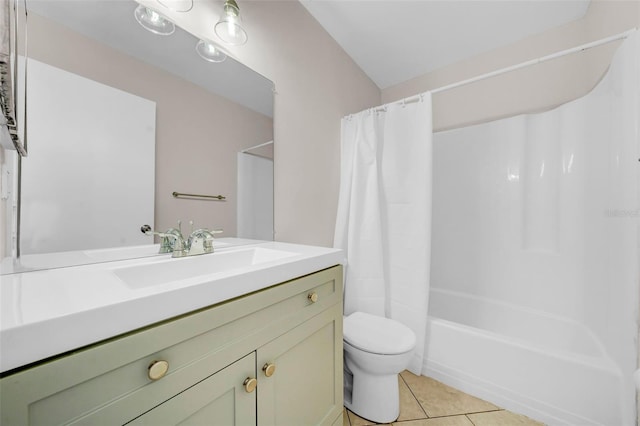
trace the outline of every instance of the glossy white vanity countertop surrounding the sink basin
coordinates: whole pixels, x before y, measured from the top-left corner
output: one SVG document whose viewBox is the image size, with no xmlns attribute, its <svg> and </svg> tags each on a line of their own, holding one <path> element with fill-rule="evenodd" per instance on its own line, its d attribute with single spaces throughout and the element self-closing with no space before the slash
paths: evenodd
<svg viewBox="0 0 640 426">
<path fill-rule="evenodd" d="M 343 261 L 342 251 L 338 249 L 278 242 L 230 244 L 217 253 L 247 247 L 281 250 L 291 252 L 291 255 L 248 267 L 138 288 L 127 285 L 117 272 L 136 265 L 180 262 L 190 258 L 171 259 L 167 254 L 0 276 L 0 372 Z"/>
</svg>

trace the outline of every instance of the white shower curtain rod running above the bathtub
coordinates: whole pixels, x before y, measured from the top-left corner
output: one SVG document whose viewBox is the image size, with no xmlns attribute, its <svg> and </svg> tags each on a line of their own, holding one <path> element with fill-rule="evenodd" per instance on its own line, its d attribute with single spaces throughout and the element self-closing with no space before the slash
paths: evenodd
<svg viewBox="0 0 640 426">
<path fill-rule="evenodd" d="M 603 44 L 611 43 L 612 41 L 622 40 L 624 38 L 629 37 L 631 34 L 636 32 L 637 30 L 638 30 L 637 27 L 636 28 L 632 28 L 632 29 L 627 30 L 625 32 L 622 32 L 620 34 L 616 34 L 616 35 L 613 35 L 613 36 L 610 36 L 610 37 L 602 38 L 600 40 L 592 41 L 592 42 L 589 42 L 589 43 L 581 44 L 580 46 L 571 47 L 569 49 L 561 50 L 559 52 L 551 53 L 549 55 L 541 56 L 541 57 L 536 58 L 536 59 L 531 59 L 529 61 L 521 62 L 519 64 L 515 64 L 515 65 L 508 66 L 508 67 L 500 68 L 500 69 L 497 69 L 495 71 L 490 71 L 490 72 L 485 73 L 485 74 L 480 74 L 478 76 L 468 78 L 466 80 L 458 81 L 456 83 L 447 84 L 445 86 L 441 86 L 441 87 L 438 87 L 438 88 L 433 89 L 433 90 L 428 90 L 428 91 L 426 91 L 424 93 L 421 93 L 419 95 L 412 95 L 412 96 L 409 96 L 407 98 L 401 99 L 399 101 L 394 101 L 394 102 L 390 102 L 390 103 L 384 104 L 382 106 L 376 107 L 375 110 L 378 111 L 378 110 L 384 109 L 387 105 L 416 102 L 416 101 L 420 100 L 420 98 L 423 95 L 425 95 L 427 93 L 431 93 L 433 95 L 433 94 L 436 94 L 436 93 L 444 92 L 444 91 L 449 90 L 449 89 L 455 89 L 457 87 L 466 86 L 467 84 L 471 84 L 471 83 L 475 83 L 477 81 L 485 80 L 485 79 L 490 78 L 490 77 L 495 77 L 495 76 L 500 75 L 500 74 L 505 74 L 505 73 L 508 73 L 508 72 L 511 72 L 511 71 L 515 71 L 515 70 L 518 70 L 520 68 L 525 68 L 525 67 L 528 67 L 528 66 L 531 66 L 531 65 L 540 64 L 542 62 L 546 62 L 546 61 L 549 61 L 551 59 L 556 59 L 556 58 L 559 58 L 561 56 L 566 56 L 566 55 L 569 55 L 571 53 L 581 52 L 583 50 L 587 50 L 587 49 L 591 49 L 593 47 L 601 46 Z"/>
</svg>

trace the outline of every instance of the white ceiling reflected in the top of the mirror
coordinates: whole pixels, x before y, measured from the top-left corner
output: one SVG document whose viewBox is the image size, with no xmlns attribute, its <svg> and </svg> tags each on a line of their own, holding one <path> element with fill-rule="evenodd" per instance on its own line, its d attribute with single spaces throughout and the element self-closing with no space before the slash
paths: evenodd
<svg viewBox="0 0 640 426">
<path fill-rule="evenodd" d="M 176 28 L 170 36 L 158 36 L 142 28 L 133 16 L 133 0 L 29 0 L 27 7 L 87 37 L 127 55 L 160 67 L 206 90 L 273 117 L 273 83 L 227 58 L 221 63 L 202 60 L 198 41 Z"/>
</svg>

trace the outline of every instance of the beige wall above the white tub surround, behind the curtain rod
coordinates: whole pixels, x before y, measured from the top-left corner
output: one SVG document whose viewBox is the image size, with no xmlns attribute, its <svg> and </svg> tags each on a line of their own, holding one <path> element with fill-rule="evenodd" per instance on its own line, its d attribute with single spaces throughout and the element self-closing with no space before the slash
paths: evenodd
<svg viewBox="0 0 640 426">
<path fill-rule="evenodd" d="M 402 99 L 639 25 L 639 1 L 593 0 L 580 20 L 384 89 L 382 101 Z M 433 96 L 435 130 L 546 110 L 576 99 L 599 81 L 617 45 L 611 43 L 437 93 Z M 570 84 L 566 83 L 567 74 L 572 76 Z"/>
</svg>

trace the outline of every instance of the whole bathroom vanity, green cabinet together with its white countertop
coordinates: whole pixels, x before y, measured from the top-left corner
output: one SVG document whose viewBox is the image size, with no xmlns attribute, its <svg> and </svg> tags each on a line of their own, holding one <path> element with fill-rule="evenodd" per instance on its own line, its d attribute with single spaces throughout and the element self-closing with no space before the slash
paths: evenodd
<svg viewBox="0 0 640 426">
<path fill-rule="evenodd" d="M 269 250 L 290 255 L 278 256 Z M 202 269 L 205 263 L 216 265 L 218 258 L 237 264 L 227 270 Z M 23 365 L 2 373 L 1 423 L 341 424 L 340 251 L 263 243 L 194 259 L 198 264 L 188 265 L 188 270 L 201 268 L 199 275 L 159 280 L 157 285 L 136 286 L 133 280 L 152 270 L 165 276 L 174 268 L 180 271 L 180 262 L 188 259 L 66 268 L 70 280 L 87 274 L 107 285 L 106 277 L 112 277 L 114 292 L 120 285 L 139 294 L 127 297 L 127 291 L 119 289 L 122 300 L 118 303 L 108 300 L 97 306 L 94 300 L 93 306 L 87 303 L 86 309 L 67 312 L 75 326 L 58 329 L 55 339 L 73 341 L 70 345 L 76 347 L 61 354 L 34 360 L 41 356 L 36 352 L 46 350 L 30 349 L 55 340 L 45 335 L 52 330 L 47 322 L 63 324 L 67 319 L 60 312 L 33 320 L 26 315 L 20 326 L 3 321 L 3 356 L 10 357 L 7 362 Z M 249 264 L 241 265 L 238 259 L 249 259 Z M 84 272 L 78 271 L 83 268 Z M 64 275 L 62 270 L 39 273 L 55 278 L 56 272 Z M 28 274 L 3 276 L 7 282 L 2 287 L 14 286 L 15 292 L 18 276 Z M 36 285 L 25 280 L 22 284 Z M 61 287 L 68 290 L 62 283 Z M 5 298 L 9 291 L 5 288 L 2 294 L 3 311 L 10 304 Z M 13 305 L 25 303 L 13 296 Z M 78 300 L 88 302 L 89 298 L 81 295 Z M 160 301 L 161 305 L 154 305 Z M 182 310 L 191 308 L 176 314 L 167 309 L 171 301 Z M 13 309 L 17 315 L 19 307 Z M 109 315 L 99 312 L 105 310 Z M 7 317 L 6 311 L 3 316 Z M 130 330 L 79 344 L 95 339 L 91 337 L 94 327 L 97 334 L 105 333 L 109 329 L 103 324 L 105 318 L 128 324 L 125 327 Z"/>
</svg>

